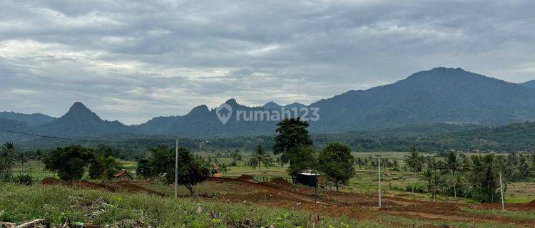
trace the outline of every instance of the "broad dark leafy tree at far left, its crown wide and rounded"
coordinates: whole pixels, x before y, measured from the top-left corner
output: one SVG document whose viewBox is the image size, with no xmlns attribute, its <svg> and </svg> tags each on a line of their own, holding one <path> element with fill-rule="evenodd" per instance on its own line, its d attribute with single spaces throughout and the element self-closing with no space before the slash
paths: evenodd
<svg viewBox="0 0 535 228">
<path fill-rule="evenodd" d="M 73 180 L 81 179 L 86 166 L 94 158 L 95 154 L 91 148 L 70 145 L 51 150 L 44 157 L 43 163 L 46 170 L 57 172 L 61 180 L 71 185 Z"/>
</svg>

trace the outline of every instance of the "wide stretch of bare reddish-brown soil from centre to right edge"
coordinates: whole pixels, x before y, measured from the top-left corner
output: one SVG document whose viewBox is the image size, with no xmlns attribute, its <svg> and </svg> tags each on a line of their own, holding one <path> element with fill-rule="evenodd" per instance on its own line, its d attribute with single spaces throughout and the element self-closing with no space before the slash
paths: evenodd
<svg viewBox="0 0 535 228">
<path fill-rule="evenodd" d="M 378 199 L 376 194 L 320 190 L 318 192 L 318 195 L 320 195 L 319 199 L 315 202 L 313 188 L 292 187 L 286 180 L 284 180 L 286 182 L 284 185 L 272 185 L 270 182 L 260 182 L 257 184 L 248 180 L 230 180 L 224 178 L 208 181 L 218 183 L 237 182 L 238 185 L 241 185 L 241 189 L 243 189 L 242 191 L 221 194 L 215 197 L 215 199 L 231 203 L 246 202 L 265 206 L 285 207 L 288 209 L 305 209 L 317 214 L 345 216 L 354 219 L 371 219 L 378 214 L 392 214 L 412 219 L 461 222 L 505 222 L 509 224 L 527 225 L 530 227 L 535 226 L 534 219 L 515 219 L 512 217 L 498 217 L 491 214 L 473 214 L 462 209 L 462 207 L 475 208 L 474 204 L 428 202 L 384 196 L 382 209 L 377 209 Z M 280 180 L 275 180 L 275 182 L 279 181 Z M 487 206 L 492 204 L 475 205 Z M 519 204 L 507 204 L 506 207 L 511 210 L 521 209 L 526 207 L 526 204 L 522 204 L 522 207 Z"/>
</svg>

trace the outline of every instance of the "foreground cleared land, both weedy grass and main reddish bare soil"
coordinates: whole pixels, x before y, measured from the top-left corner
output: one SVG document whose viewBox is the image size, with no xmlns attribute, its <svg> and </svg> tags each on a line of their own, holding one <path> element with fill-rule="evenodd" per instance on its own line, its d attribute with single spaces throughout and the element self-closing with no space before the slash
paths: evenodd
<svg viewBox="0 0 535 228">
<path fill-rule="evenodd" d="M 4 214 L 0 218 L 13 222 L 22 222 L 30 217 L 50 219 L 50 215 L 38 212 L 39 208 L 31 206 L 46 204 L 51 205 L 50 208 L 46 206 L 50 213 L 65 214 L 63 210 L 74 210 L 62 215 L 63 219 L 68 217 L 71 221 L 84 224 L 113 224 L 124 222 L 125 219 L 138 221 L 143 217 L 146 224 L 182 222 L 191 227 L 195 227 L 192 225 L 195 222 L 200 222 L 200 227 L 234 226 L 232 221 L 236 219 L 241 219 L 242 222 L 248 219 L 256 224 L 253 227 L 270 224 L 275 224 L 276 227 L 311 227 L 312 223 L 316 223 L 316 227 L 535 226 L 535 202 L 506 204 L 508 211 L 501 212 L 499 204 L 454 204 L 386 196 L 382 209 L 377 209 L 377 195 L 371 192 L 361 194 L 319 190 L 315 199 L 313 188 L 290 185 L 284 180 L 256 183 L 210 178 L 195 188 L 198 197 L 180 199 L 173 199 L 173 187 L 154 181 L 113 182 L 110 185 L 80 181 L 69 188 L 63 186 L 61 181 L 47 178 L 43 184 L 47 185 L 2 185 L 0 206 Z M 187 193 L 185 188 L 180 187 L 180 195 Z M 105 206 L 95 205 L 95 202 Z M 206 207 L 199 213 L 195 212 L 198 203 Z M 25 204 L 27 205 L 23 206 Z M 65 205 L 53 206 L 54 204 Z M 67 204 L 74 206 L 68 207 Z M 134 206 L 136 204 L 139 205 Z M 101 207 L 105 207 L 103 212 L 91 211 L 102 209 Z M 171 213 L 164 211 L 177 207 L 184 211 L 185 217 L 173 215 L 175 220 L 172 220 L 163 219 L 161 214 L 153 214 L 155 211 Z M 106 209 L 110 208 L 117 214 L 108 214 Z M 88 213 L 97 214 L 84 217 Z M 220 215 L 212 224 L 210 221 L 213 218 L 209 218 L 214 213 Z M 61 221 L 61 217 L 52 219 L 55 222 Z"/>
</svg>

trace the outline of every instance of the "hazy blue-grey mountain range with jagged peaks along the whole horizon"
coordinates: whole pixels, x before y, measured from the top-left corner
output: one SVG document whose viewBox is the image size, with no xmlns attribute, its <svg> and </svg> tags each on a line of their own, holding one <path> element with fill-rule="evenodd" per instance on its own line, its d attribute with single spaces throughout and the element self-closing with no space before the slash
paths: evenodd
<svg viewBox="0 0 535 228">
<path fill-rule="evenodd" d="M 273 135 L 276 121 L 236 120 L 238 111 L 319 108 L 320 119 L 310 123 L 311 133 L 340 133 L 377 130 L 420 123 L 469 123 L 503 125 L 535 120 L 535 81 L 509 83 L 461 68 L 433 68 L 404 80 L 367 90 L 350 90 L 310 105 L 266 103 L 260 107 L 225 102 L 232 108 L 223 124 L 217 109 L 199 105 L 186 115 L 156 117 L 141 125 L 123 125 L 103 120 L 82 103 L 76 102 L 60 118 L 43 114 L 0 113 L 0 128 L 58 137 L 129 133 L 173 135 L 188 138 L 215 136 Z M 302 114 L 300 110 L 298 115 Z M 295 115 L 295 114 L 294 114 Z M 14 138 L 0 133 L 0 140 Z"/>
</svg>

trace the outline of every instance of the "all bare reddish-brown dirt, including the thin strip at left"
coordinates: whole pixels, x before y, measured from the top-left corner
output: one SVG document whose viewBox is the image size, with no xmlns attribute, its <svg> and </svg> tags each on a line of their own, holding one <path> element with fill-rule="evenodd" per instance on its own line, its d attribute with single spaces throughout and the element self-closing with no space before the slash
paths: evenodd
<svg viewBox="0 0 535 228">
<path fill-rule="evenodd" d="M 244 179 L 244 180 L 241 180 Z M 377 194 L 358 194 L 350 192 L 335 192 L 331 190 L 315 190 L 310 187 L 298 187 L 286 180 L 272 180 L 271 182 L 256 183 L 248 178 L 209 178 L 206 183 L 218 185 L 232 183 L 232 191 L 221 194 L 205 194 L 199 192 L 199 197 L 221 200 L 228 203 L 258 204 L 267 207 L 285 207 L 301 209 L 321 214 L 323 216 L 345 216 L 352 219 L 374 219 L 381 214 L 390 214 L 409 219 L 423 219 L 433 221 L 455 222 L 497 222 L 519 226 L 535 227 L 535 219 L 519 219 L 492 214 L 475 214 L 462 208 L 471 209 L 501 209 L 501 204 L 464 204 L 454 202 L 427 202 L 404 199 L 401 197 L 383 197 L 382 208 L 378 209 Z M 53 180 L 46 182 L 55 183 Z M 60 182 L 61 183 L 61 182 Z M 141 184 L 141 183 L 140 183 Z M 110 191 L 148 192 L 164 196 L 163 192 L 149 190 L 135 182 L 112 182 L 108 185 L 93 182 L 74 182 L 73 185 L 83 188 L 104 189 Z M 150 185 L 143 182 L 143 186 Z M 315 197 L 317 195 L 317 197 Z M 506 204 L 509 211 L 535 213 L 535 201 L 526 204 Z M 400 225 L 401 226 L 401 225 Z"/>
</svg>

